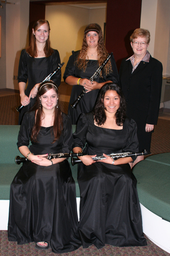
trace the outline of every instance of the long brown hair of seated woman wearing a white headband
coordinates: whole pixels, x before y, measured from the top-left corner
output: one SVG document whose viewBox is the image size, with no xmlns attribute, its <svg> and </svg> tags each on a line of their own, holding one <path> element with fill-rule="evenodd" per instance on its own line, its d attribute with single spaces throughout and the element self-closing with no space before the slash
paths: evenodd
<svg viewBox="0 0 170 256">
<path fill-rule="evenodd" d="M 41 129 L 41 120 L 44 118 L 44 112 L 42 110 L 42 105 L 40 104 L 40 96 L 44 95 L 44 93 L 48 92 L 48 90 L 54 89 L 58 96 L 58 86 L 53 81 L 45 81 L 42 82 L 39 86 L 39 90 L 37 93 L 36 103 L 31 109 L 31 111 L 36 112 L 35 125 L 32 129 L 31 140 L 37 141 L 37 135 Z M 63 129 L 63 120 L 61 109 L 58 105 L 56 105 L 54 109 L 54 123 L 53 123 L 53 133 L 54 133 L 54 141 L 57 141 L 62 133 Z"/>
</svg>

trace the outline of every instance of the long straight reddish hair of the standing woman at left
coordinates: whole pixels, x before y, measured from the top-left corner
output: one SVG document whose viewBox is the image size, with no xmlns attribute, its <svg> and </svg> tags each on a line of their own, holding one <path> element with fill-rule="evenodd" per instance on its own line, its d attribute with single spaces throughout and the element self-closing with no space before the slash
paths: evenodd
<svg viewBox="0 0 170 256">
<path fill-rule="evenodd" d="M 47 24 L 48 26 L 48 30 L 50 32 L 50 26 L 49 26 L 49 22 L 48 20 L 45 20 L 45 19 L 40 19 L 40 20 L 37 20 L 37 22 L 35 22 L 33 24 L 33 30 L 36 31 L 39 29 L 40 26 L 42 26 L 43 24 Z M 32 31 L 32 34 L 31 34 L 31 41 L 29 43 L 29 46 L 27 47 L 26 49 L 27 53 L 31 56 L 31 57 L 37 57 L 37 46 L 36 46 L 36 38 L 35 38 L 35 35 L 33 34 L 33 31 Z M 49 36 L 48 36 L 48 39 L 46 40 L 45 42 L 45 46 L 44 46 L 44 53 L 45 53 L 45 56 L 46 57 L 49 57 L 50 55 L 53 54 L 53 49 L 50 47 L 50 40 L 49 40 Z"/>
</svg>

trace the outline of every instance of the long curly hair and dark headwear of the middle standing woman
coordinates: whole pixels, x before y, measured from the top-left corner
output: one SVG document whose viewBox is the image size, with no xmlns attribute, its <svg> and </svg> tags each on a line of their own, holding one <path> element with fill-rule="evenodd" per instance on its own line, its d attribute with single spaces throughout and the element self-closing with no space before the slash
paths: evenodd
<svg viewBox="0 0 170 256">
<path fill-rule="evenodd" d="M 98 57 L 99 67 L 101 64 L 103 64 L 105 59 L 107 59 L 108 57 L 108 51 L 104 45 L 103 32 L 101 30 L 101 27 L 97 23 L 89 24 L 84 30 L 82 49 L 80 50 L 78 59 L 76 60 L 77 67 L 79 69 L 83 69 L 84 72 L 86 71 L 87 62 L 88 62 L 88 56 L 87 56 L 88 45 L 87 45 L 86 35 L 89 31 L 96 31 L 97 34 L 99 35 L 99 41 L 97 45 L 97 57 Z M 112 72 L 111 60 L 109 60 L 104 67 L 105 75 L 108 75 L 108 73 L 110 72 Z"/>
</svg>

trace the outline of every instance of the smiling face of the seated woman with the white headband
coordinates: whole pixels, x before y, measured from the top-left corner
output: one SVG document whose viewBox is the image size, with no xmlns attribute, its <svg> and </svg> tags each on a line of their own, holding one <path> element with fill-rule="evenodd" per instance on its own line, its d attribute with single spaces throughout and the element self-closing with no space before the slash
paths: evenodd
<svg viewBox="0 0 170 256">
<path fill-rule="evenodd" d="M 57 105 L 58 95 L 54 89 L 50 89 L 48 92 L 40 96 L 40 100 L 42 109 L 52 110 Z"/>
</svg>

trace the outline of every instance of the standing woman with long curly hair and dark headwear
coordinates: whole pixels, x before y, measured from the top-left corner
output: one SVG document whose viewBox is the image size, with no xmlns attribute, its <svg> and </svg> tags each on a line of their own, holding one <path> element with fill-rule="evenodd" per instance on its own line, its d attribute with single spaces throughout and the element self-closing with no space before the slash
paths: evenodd
<svg viewBox="0 0 170 256">
<path fill-rule="evenodd" d="M 63 75 L 65 82 L 73 85 L 70 104 L 78 98 L 83 88 L 87 90 L 76 109 L 71 108 L 69 104 L 68 114 L 71 117 L 72 124 L 76 124 L 80 114 L 92 111 L 101 86 L 106 82 L 119 82 L 113 55 L 101 71 L 100 76 L 95 81 L 90 81 L 90 77 L 94 75 L 97 68 L 103 64 L 107 57 L 108 51 L 104 45 L 101 27 L 97 23 L 89 24 L 84 30 L 82 49 L 76 52 L 73 51 Z"/>
</svg>

